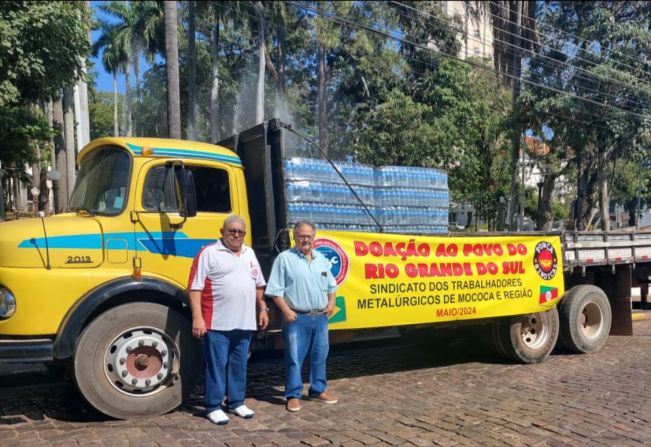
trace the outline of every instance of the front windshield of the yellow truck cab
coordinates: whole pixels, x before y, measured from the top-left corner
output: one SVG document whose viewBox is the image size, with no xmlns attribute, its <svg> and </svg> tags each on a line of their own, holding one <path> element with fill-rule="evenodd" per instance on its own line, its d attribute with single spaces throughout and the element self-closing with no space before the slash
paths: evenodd
<svg viewBox="0 0 651 447">
<path fill-rule="evenodd" d="M 130 173 L 131 158 L 125 150 L 96 149 L 81 162 L 70 209 L 109 216 L 120 214 L 127 199 Z"/>
</svg>

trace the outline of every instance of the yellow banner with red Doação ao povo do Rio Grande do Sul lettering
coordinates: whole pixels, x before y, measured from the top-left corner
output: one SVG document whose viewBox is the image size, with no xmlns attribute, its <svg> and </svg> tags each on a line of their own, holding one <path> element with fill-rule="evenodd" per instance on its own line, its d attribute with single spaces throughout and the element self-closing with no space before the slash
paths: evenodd
<svg viewBox="0 0 651 447">
<path fill-rule="evenodd" d="M 559 236 L 319 231 L 314 246 L 338 284 L 333 329 L 540 312 L 564 293 Z"/>
</svg>

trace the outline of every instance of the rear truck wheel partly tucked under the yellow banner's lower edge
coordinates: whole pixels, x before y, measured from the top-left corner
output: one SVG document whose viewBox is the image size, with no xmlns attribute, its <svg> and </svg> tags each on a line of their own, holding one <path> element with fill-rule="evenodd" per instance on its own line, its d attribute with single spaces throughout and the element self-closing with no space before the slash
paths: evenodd
<svg viewBox="0 0 651 447">
<path fill-rule="evenodd" d="M 554 349 L 558 332 L 558 311 L 553 308 L 496 321 L 492 341 L 496 351 L 506 359 L 519 363 L 540 363 Z"/>
</svg>

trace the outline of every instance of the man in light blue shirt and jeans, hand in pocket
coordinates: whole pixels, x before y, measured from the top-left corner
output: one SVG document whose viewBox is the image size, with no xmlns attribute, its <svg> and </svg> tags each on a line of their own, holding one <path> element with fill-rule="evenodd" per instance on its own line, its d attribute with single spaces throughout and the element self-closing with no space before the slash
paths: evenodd
<svg viewBox="0 0 651 447">
<path fill-rule="evenodd" d="M 301 409 L 301 367 L 307 354 L 310 355 L 308 397 L 328 404 L 337 403 L 337 398 L 326 392 L 328 318 L 334 311 L 337 283 L 330 271 L 330 262 L 312 249 L 315 233 L 312 222 L 296 222 L 295 246 L 278 255 L 265 291 L 283 315 L 288 411 Z"/>
</svg>

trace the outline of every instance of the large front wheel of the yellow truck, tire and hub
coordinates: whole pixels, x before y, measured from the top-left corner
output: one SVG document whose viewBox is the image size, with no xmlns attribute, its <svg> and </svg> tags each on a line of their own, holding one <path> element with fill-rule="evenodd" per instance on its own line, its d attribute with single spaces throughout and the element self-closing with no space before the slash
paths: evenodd
<svg viewBox="0 0 651 447">
<path fill-rule="evenodd" d="M 175 310 L 131 303 L 100 314 L 81 333 L 73 377 L 86 401 L 117 419 L 167 413 L 186 398 L 200 350 Z"/>
</svg>

